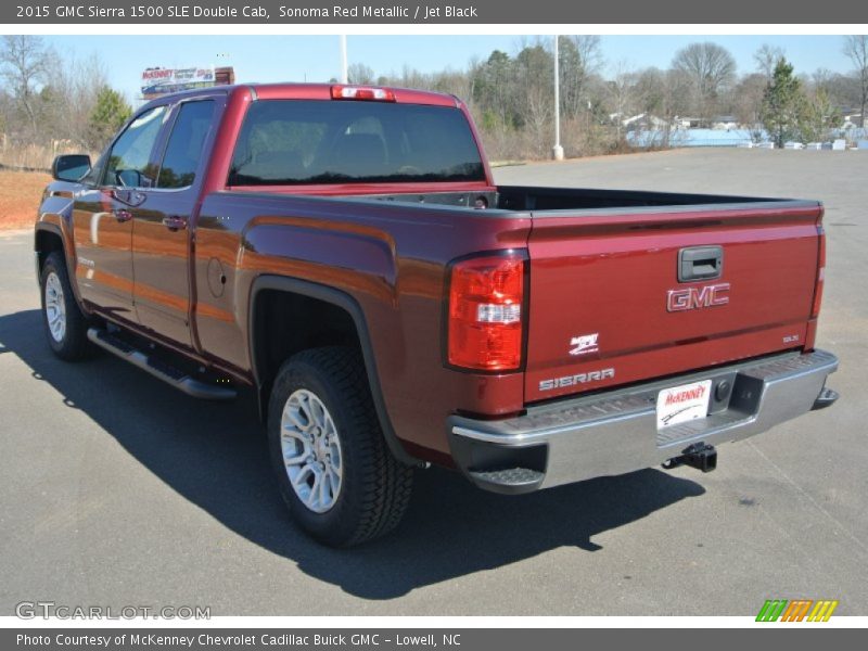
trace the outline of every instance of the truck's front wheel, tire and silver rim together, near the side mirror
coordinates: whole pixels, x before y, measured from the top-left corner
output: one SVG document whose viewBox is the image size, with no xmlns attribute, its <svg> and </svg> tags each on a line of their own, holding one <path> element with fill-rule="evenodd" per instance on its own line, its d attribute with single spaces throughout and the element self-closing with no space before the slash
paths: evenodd
<svg viewBox="0 0 868 651">
<path fill-rule="evenodd" d="M 92 354 L 88 318 L 73 295 L 63 255 L 55 251 L 46 258 L 39 280 L 46 336 L 51 349 L 58 357 L 71 361 Z"/>
</svg>

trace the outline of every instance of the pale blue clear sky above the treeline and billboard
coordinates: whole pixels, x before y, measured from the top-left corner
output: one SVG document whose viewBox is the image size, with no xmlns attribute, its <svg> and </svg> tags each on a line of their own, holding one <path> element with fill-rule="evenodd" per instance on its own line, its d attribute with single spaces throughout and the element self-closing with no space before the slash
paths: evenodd
<svg viewBox="0 0 868 651">
<path fill-rule="evenodd" d="M 64 58 L 99 54 L 110 84 L 128 99 L 138 97 L 148 67 L 231 65 L 240 82 L 328 81 L 340 77 L 337 36 L 46 36 Z M 350 64 L 363 63 L 378 75 L 400 73 L 405 65 L 423 73 L 464 69 L 495 49 L 515 54 L 534 35 L 348 36 Z M 550 36 L 541 37 L 550 40 Z M 764 43 L 781 48 L 796 73 L 817 68 L 850 72 L 841 36 L 612 36 L 600 37 L 603 73 L 647 66 L 667 67 L 675 52 L 710 40 L 727 48 L 740 74 L 754 72 L 754 52 Z"/>
</svg>

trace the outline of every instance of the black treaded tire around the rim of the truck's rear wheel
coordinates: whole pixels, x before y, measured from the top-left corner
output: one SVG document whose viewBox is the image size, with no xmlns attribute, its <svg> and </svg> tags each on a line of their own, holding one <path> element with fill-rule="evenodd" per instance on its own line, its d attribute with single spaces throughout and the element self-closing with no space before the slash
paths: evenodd
<svg viewBox="0 0 868 651">
<path fill-rule="evenodd" d="M 324 405 L 340 441 L 340 489 L 324 512 L 302 501 L 284 462 L 281 419 L 290 397 L 299 390 Z M 295 522 L 316 540 L 349 547 L 383 536 L 400 522 L 413 471 L 395 459 L 383 438 L 363 361 L 353 348 L 314 348 L 283 363 L 268 407 L 268 446 L 283 500 Z M 312 474 L 308 478 L 312 483 Z"/>
</svg>

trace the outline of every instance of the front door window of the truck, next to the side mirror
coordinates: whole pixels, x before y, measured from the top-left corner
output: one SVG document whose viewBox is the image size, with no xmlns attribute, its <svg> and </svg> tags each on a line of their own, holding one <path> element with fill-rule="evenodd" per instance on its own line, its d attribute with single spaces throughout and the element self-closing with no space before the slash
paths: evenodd
<svg viewBox="0 0 868 651">
<path fill-rule="evenodd" d="M 155 170 L 149 166 L 149 162 L 165 113 L 165 106 L 155 106 L 130 123 L 108 153 L 104 183 L 129 188 L 150 188 L 154 184 Z"/>
</svg>

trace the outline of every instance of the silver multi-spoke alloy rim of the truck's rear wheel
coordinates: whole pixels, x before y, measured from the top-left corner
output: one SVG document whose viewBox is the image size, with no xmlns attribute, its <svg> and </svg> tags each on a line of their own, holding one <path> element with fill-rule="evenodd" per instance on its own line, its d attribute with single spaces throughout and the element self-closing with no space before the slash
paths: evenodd
<svg viewBox="0 0 868 651">
<path fill-rule="evenodd" d="M 280 447 L 295 495 L 315 513 L 331 509 L 343 484 L 341 438 L 331 413 L 315 393 L 299 388 L 280 418 Z"/>
</svg>

